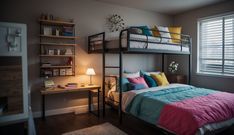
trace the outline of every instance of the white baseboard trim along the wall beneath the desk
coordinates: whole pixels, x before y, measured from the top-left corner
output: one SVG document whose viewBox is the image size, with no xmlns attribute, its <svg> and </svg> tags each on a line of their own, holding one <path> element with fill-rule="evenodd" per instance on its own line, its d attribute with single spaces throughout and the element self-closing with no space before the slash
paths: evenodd
<svg viewBox="0 0 234 135">
<path fill-rule="evenodd" d="M 96 108 L 97 104 L 94 104 Z M 52 109 L 52 110 L 46 110 L 45 116 L 53 116 L 53 115 L 59 115 L 59 114 L 66 114 L 66 113 L 75 113 L 75 114 L 82 114 L 89 112 L 88 105 L 82 105 L 82 106 L 72 106 L 72 107 L 66 107 L 66 108 L 59 108 L 59 109 Z M 96 109 L 94 109 L 96 110 Z M 34 118 L 41 117 L 41 111 L 33 112 Z"/>
</svg>

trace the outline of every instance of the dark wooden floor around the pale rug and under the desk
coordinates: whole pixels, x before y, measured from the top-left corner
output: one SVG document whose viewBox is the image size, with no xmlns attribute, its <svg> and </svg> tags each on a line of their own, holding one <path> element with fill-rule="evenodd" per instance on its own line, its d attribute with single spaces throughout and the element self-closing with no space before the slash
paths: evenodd
<svg viewBox="0 0 234 135">
<path fill-rule="evenodd" d="M 90 127 L 93 125 L 109 122 L 129 135 L 165 135 L 161 130 L 145 125 L 141 121 L 125 116 L 123 123 L 118 122 L 116 111 L 107 111 L 105 118 L 97 118 L 93 114 L 63 114 L 47 117 L 45 121 L 36 119 L 38 135 L 61 135 L 62 133 Z M 233 135 L 234 129 L 229 128 L 220 135 Z"/>
</svg>

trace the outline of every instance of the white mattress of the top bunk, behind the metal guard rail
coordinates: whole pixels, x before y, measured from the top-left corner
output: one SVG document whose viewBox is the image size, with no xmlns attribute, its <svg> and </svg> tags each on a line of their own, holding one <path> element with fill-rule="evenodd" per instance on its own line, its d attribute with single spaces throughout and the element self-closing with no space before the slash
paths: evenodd
<svg viewBox="0 0 234 135">
<path fill-rule="evenodd" d="M 130 34 L 130 39 L 131 40 L 140 40 L 140 41 L 147 41 L 147 36 L 145 35 L 138 35 L 138 34 Z M 102 41 L 100 41 L 101 38 L 97 37 L 92 39 L 91 41 L 94 41 L 93 44 L 95 44 L 95 49 L 102 49 Z M 160 42 L 161 38 L 159 37 L 152 37 L 148 36 L 148 41 L 149 42 Z M 122 48 L 127 47 L 127 37 L 126 34 L 122 37 Z M 146 43 L 146 42 L 138 42 L 138 41 L 130 41 L 129 43 L 130 48 L 145 48 L 145 49 L 156 49 L 156 50 L 167 50 L 167 51 L 181 51 L 181 46 L 180 44 L 176 43 L 168 43 L 166 44 L 164 42 L 162 43 Z M 106 45 L 107 49 L 115 49 L 119 48 L 119 39 L 115 38 L 112 40 L 109 40 Z M 182 46 L 182 52 L 189 52 L 189 47 L 187 46 Z"/>
</svg>

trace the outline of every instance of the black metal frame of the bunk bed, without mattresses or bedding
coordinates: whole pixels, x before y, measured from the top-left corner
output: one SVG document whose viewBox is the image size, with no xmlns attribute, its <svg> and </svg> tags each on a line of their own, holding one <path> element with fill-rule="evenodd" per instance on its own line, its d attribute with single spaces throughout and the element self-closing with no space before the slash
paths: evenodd
<svg viewBox="0 0 234 135">
<path fill-rule="evenodd" d="M 132 28 L 132 27 L 131 27 Z M 170 55 L 170 54 L 176 54 L 176 55 L 188 55 L 189 59 L 188 59 L 188 84 L 190 84 L 191 81 L 191 53 L 192 53 L 192 39 L 189 35 L 183 35 L 183 34 L 178 34 L 178 33 L 170 33 L 170 32 L 165 32 L 165 31 L 161 31 L 161 32 L 165 32 L 165 33 L 170 33 L 170 34 L 177 34 L 180 36 L 184 36 L 186 38 L 188 38 L 188 44 L 186 44 L 189 47 L 189 52 L 183 52 L 182 51 L 182 47 L 185 46 L 183 43 L 185 41 L 182 41 L 182 39 L 180 39 L 180 46 L 181 46 L 181 50 L 180 51 L 168 51 L 168 50 L 157 50 L 157 49 L 145 49 L 145 48 L 130 48 L 130 41 L 136 41 L 136 42 L 145 42 L 147 43 L 160 43 L 160 44 L 170 44 L 170 43 L 163 43 L 162 38 L 165 39 L 173 39 L 173 38 L 166 38 L 166 37 L 159 37 L 161 39 L 160 42 L 151 42 L 148 40 L 148 36 L 145 35 L 147 37 L 146 41 L 140 41 L 140 40 L 131 40 L 130 39 L 130 32 L 129 32 L 130 28 L 121 30 L 120 34 L 119 34 L 119 48 L 115 48 L 115 49 L 107 49 L 106 48 L 106 42 L 105 41 L 105 32 L 102 33 L 98 33 L 95 35 L 91 35 L 88 37 L 88 53 L 102 53 L 102 58 L 103 58 L 103 77 L 102 77 L 102 88 L 103 88 L 103 117 L 105 116 L 105 105 L 106 103 L 106 96 L 105 96 L 105 78 L 106 78 L 106 69 L 119 69 L 119 105 L 118 105 L 118 115 L 119 115 L 119 122 L 122 123 L 122 117 L 123 117 L 123 111 L 122 111 L 122 73 L 123 73 L 123 54 L 127 53 L 134 53 L 134 54 L 161 54 L 162 55 L 162 72 L 164 72 L 164 57 L 165 55 Z M 154 31 L 153 29 L 148 29 L 150 31 Z M 123 48 L 122 47 L 122 36 L 123 33 L 127 32 L 127 47 Z M 140 35 L 140 34 L 139 34 Z M 91 49 L 91 42 L 93 42 L 91 39 L 95 38 L 97 36 L 102 36 L 102 39 L 100 40 L 102 42 L 102 49 L 101 50 L 92 50 Z M 176 39 L 178 40 L 178 39 Z M 97 40 L 96 40 L 97 41 Z M 174 44 L 170 44 L 170 45 L 174 45 Z M 119 65 L 118 66 L 106 66 L 106 53 L 117 53 L 119 54 Z M 139 119 L 139 118 L 137 118 Z M 142 120 L 143 121 L 143 120 Z M 146 122 L 147 123 L 147 122 Z M 149 123 L 148 123 L 149 124 Z M 150 124 L 152 125 L 152 124 Z M 155 126 L 155 125 L 154 125 Z M 161 128 L 160 128 L 161 129 Z M 165 130 L 163 130 L 165 131 Z M 168 131 L 166 131 L 168 132 Z M 169 133 L 171 134 L 171 133 Z"/>
</svg>

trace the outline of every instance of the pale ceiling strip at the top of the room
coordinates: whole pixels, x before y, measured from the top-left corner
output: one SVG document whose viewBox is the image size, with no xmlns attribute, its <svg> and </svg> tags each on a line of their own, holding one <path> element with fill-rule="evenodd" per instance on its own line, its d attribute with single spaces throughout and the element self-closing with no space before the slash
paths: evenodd
<svg viewBox="0 0 234 135">
<path fill-rule="evenodd" d="M 175 15 L 226 0 L 96 0 L 126 7 Z"/>
</svg>

